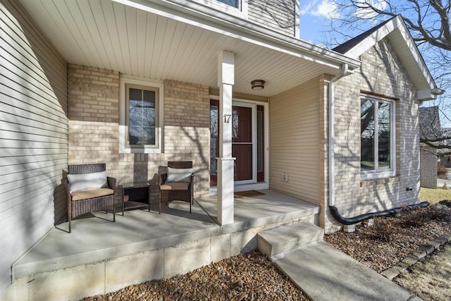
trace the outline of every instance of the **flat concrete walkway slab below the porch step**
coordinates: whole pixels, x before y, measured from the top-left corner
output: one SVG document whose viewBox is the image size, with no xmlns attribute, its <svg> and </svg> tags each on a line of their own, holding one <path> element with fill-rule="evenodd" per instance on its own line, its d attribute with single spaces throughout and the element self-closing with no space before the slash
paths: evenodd
<svg viewBox="0 0 451 301">
<path fill-rule="evenodd" d="M 324 241 L 285 252 L 273 262 L 314 301 L 421 300 Z"/>
</svg>

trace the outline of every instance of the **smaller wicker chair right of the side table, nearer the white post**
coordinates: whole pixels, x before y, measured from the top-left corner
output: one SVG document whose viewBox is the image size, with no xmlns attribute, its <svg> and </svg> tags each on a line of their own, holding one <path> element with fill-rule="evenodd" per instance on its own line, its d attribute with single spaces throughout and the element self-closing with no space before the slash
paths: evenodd
<svg viewBox="0 0 451 301">
<path fill-rule="evenodd" d="M 185 176 L 186 174 L 188 176 L 181 180 L 171 180 L 170 173 L 162 173 L 159 176 L 159 213 L 161 214 L 161 202 L 165 202 L 167 205 L 168 202 L 172 201 L 189 202 L 191 213 L 191 205 L 194 204 L 192 161 L 168 161 L 168 171 L 170 171 L 170 168 L 179 171 L 182 168 L 188 168 L 185 172 Z"/>
</svg>

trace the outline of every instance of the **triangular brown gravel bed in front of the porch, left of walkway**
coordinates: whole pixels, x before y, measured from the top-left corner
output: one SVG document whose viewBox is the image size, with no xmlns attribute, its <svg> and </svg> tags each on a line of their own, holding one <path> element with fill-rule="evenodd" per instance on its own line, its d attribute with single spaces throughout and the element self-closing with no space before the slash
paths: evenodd
<svg viewBox="0 0 451 301">
<path fill-rule="evenodd" d="M 252 251 L 164 281 L 147 281 L 83 300 L 309 299 L 263 254 Z"/>
</svg>

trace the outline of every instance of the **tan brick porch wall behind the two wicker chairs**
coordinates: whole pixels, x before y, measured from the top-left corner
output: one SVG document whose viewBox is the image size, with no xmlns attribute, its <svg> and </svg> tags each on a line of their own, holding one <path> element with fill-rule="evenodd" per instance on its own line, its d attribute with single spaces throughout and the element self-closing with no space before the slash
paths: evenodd
<svg viewBox="0 0 451 301">
<path fill-rule="evenodd" d="M 167 161 L 193 161 L 194 195 L 209 192 L 209 88 L 165 80 L 163 153 L 120 154 L 119 73 L 69 66 L 69 164 L 106 163 L 118 185 L 151 180 L 158 202 L 157 174 Z"/>
</svg>

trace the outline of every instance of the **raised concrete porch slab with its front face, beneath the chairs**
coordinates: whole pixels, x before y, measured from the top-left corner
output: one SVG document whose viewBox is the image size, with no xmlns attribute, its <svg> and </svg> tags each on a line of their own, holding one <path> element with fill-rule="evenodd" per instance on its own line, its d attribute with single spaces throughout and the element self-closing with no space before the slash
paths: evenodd
<svg viewBox="0 0 451 301">
<path fill-rule="evenodd" d="M 17 300 L 78 300 L 132 283 L 169 278 L 257 247 L 257 233 L 280 225 L 318 224 L 319 206 L 273 190 L 235 195 L 235 221 L 218 226 L 216 197 L 63 223 L 13 265 Z M 25 295 L 20 295 L 25 294 Z M 55 299 L 56 298 L 56 299 Z"/>
</svg>

